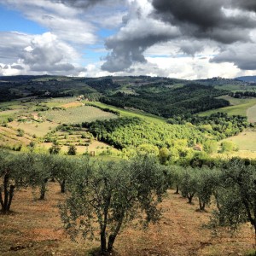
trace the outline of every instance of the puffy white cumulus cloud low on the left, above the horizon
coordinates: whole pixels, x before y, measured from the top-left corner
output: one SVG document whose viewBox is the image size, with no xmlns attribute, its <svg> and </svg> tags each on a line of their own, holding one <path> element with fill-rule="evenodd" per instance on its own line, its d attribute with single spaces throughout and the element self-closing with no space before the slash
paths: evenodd
<svg viewBox="0 0 256 256">
<path fill-rule="evenodd" d="M 84 67 L 76 64 L 80 55 L 69 44 L 50 32 L 26 35 L 18 32 L 0 32 L 2 69 L 15 74 L 62 73 L 78 75 Z"/>
</svg>

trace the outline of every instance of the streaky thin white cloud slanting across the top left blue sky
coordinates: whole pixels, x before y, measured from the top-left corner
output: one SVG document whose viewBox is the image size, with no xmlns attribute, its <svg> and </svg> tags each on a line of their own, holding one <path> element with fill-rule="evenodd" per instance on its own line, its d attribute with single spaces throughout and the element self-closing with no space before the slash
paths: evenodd
<svg viewBox="0 0 256 256">
<path fill-rule="evenodd" d="M 82 19 L 79 9 L 61 1 L 6 0 L 9 7 L 18 9 L 27 19 L 46 27 L 58 38 L 74 44 L 95 44 L 96 27 Z"/>
</svg>

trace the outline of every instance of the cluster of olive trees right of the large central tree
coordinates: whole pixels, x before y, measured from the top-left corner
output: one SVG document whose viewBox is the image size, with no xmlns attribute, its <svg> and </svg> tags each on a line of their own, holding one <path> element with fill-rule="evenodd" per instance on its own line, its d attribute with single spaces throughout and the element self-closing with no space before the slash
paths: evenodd
<svg viewBox="0 0 256 256">
<path fill-rule="evenodd" d="M 214 204 L 211 226 L 229 226 L 236 230 L 240 224 L 250 223 L 256 245 L 256 166 L 248 161 L 231 159 L 219 162 L 213 169 L 172 167 L 169 172 L 176 193 L 192 203 L 198 199 L 199 210 Z"/>
</svg>

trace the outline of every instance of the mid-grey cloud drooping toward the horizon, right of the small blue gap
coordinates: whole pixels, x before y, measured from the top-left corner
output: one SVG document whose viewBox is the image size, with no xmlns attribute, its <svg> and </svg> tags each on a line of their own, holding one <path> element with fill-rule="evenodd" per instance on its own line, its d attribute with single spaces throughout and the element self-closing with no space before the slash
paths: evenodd
<svg viewBox="0 0 256 256">
<path fill-rule="evenodd" d="M 118 34 L 106 40 L 107 49 L 112 50 L 102 65 L 102 70 L 119 72 L 131 67 L 133 62 L 146 62 L 143 55 L 148 47 L 177 38 L 179 31 L 160 20 L 137 19 L 126 21 L 127 24 Z"/>
</svg>

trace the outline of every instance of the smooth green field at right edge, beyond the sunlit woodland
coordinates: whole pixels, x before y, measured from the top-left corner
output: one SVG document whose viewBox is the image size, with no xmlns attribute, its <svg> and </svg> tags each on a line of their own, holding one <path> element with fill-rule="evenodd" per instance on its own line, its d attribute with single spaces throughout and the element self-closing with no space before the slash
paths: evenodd
<svg viewBox="0 0 256 256">
<path fill-rule="evenodd" d="M 225 100 L 228 100 L 232 106 L 225 108 L 212 109 L 206 112 L 199 113 L 200 116 L 210 115 L 216 112 L 228 113 L 230 115 L 242 115 L 247 116 L 247 109 L 256 105 L 256 98 L 250 99 L 236 99 L 230 96 L 221 96 Z"/>
</svg>

